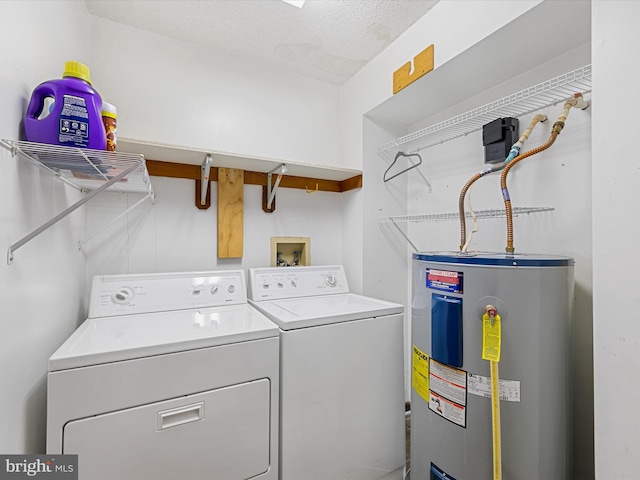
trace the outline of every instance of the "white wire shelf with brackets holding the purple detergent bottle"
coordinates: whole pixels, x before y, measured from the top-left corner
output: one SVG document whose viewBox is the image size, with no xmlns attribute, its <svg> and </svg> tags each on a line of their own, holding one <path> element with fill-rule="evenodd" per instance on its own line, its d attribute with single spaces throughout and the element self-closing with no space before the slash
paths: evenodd
<svg viewBox="0 0 640 480">
<path fill-rule="evenodd" d="M 9 264 L 13 262 L 13 253 L 18 248 L 104 191 L 141 193 L 144 197 L 78 242 L 78 248 L 146 199 L 151 199 L 152 203 L 155 200 L 143 155 L 6 139 L 1 140 L 0 145 L 9 150 L 12 156 L 25 159 L 57 176 L 67 185 L 82 192 L 88 192 L 66 210 L 10 245 L 7 252 Z"/>
</svg>

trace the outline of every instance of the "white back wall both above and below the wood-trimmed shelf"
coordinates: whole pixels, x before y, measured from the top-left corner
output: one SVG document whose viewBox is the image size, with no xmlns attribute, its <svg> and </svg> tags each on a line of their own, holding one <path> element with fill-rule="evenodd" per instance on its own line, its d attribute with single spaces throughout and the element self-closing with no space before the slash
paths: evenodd
<svg viewBox="0 0 640 480">
<path fill-rule="evenodd" d="M 119 136 L 299 163 L 339 161 L 337 87 L 91 20 L 92 75 L 102 96 L 118 107 Z M 89 278 L 268 266 L 271 236 L 308 236 L 312 263 L 341 263 L 340 194 L 281 188 L 276 211 L 266 214 L 261 187 L 245 186 L 244 255 L 221 260 L 217 183 L 211 183 L 209 210 L 194 206 L 194 181 L 152 177 L 152 183 L 155 205 L 138 207 L 87 244 Z M 89 228 L 138 198 L 106 194 L 95 199 L 88 205 Z"/>
</svg>

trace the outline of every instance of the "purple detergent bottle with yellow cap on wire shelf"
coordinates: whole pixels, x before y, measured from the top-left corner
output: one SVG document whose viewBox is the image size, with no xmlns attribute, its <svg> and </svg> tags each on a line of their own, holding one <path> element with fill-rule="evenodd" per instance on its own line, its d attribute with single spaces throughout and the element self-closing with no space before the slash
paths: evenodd
<svg viewBox="0 0 640 480">
<path fill-rule="evenodd" d="M 101 108 L 89 67 L 66 62 L 62 79 L 41 83 L 33 91 L 24 132 L 30 142 L 104 150 L 107 140 Z"/>
</svg>

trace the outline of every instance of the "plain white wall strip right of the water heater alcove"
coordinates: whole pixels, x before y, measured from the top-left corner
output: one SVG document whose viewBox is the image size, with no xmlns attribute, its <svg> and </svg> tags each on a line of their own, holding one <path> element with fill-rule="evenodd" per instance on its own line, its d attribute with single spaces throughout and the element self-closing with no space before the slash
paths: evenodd
<svg viewBox="0 0 640 480">
<path fill-rule="evenodd" d="M 598 480 L 640 472 L 640 161 L 636 73 L 640 3 L 593 2 L 593 285 Z M 630 99 L 630 101 L 627 101 Z"/>
</svg>

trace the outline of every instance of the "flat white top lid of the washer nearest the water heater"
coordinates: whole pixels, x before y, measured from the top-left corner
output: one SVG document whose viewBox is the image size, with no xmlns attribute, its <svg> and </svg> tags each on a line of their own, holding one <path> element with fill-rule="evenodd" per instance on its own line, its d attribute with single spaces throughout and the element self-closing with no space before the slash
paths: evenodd
<svg viewBox="0 0 640 480">
<path fill-rule="evenodd" d="M 397 303 L 355 293 L 251 302 L 282 330 L 382 317 L 404 312 Z"/>
</svg>

